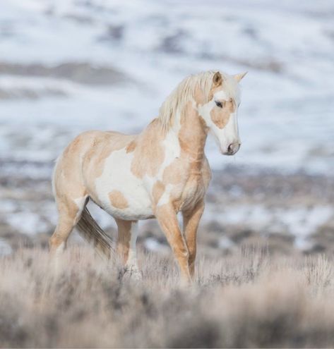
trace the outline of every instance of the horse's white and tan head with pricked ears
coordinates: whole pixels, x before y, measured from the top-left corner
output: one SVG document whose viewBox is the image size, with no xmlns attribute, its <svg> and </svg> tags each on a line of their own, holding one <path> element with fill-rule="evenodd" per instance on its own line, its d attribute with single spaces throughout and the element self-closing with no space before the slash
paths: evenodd
<svg viewBox="0 0 334 349">
<path fill-rule="evenodd" d="M 208 102 L 198 106 L 210 132 L 225 155 L 234 155 L 241 145 L 237 111 L 240 104 L 238 82 L 246 73 L 230 76 L 219 71 L 213 75 Z"/>
</svg>

